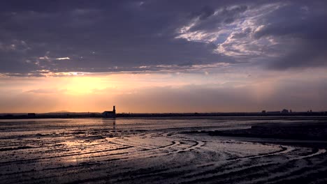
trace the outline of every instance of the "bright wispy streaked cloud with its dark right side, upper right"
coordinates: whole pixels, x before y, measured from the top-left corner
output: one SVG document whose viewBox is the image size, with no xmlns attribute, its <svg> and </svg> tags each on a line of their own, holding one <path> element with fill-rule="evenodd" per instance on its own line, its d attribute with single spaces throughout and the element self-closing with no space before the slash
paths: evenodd
<svg viewBox="0 0 327 184">
<path fill-rule="evenodd" d="M 327 66 L 327 14 L 320 8 L 326 3 L 315 1 L 310 8 L 305 5 L 278 2 L 218 9 L 215 15 L 226 12 L 233 21 L 215 15 L 208 17 L 212 22 L 194 20 L 182 27 L 177 38 L 215 43 L 219 54 L 273 70 Z"/>
</svg>

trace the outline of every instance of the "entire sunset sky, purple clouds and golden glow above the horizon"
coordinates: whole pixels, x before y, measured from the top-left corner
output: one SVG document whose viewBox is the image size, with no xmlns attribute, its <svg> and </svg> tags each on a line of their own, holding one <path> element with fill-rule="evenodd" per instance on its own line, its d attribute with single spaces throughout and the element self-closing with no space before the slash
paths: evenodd
<svg viewBox="0 0 327 184">
<path fill-rule="evenodd" d="M 327 111 L 327 1 L 1 1 L 0 112 Z"/>
</svg>

